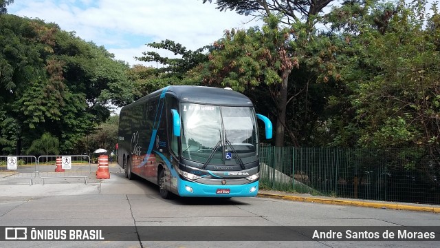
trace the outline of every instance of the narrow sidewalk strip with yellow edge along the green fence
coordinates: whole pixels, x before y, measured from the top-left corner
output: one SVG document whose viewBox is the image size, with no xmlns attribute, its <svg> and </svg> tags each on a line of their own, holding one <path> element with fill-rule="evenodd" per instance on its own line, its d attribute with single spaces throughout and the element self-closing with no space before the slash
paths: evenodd
<svg viewBox="0 0 440 248">
<path fill-rule="evenodd" d="M 393 203 L 383 202 L 377 200 L 360 200 L 351 198 L 333 198 L 327 196 L 311 196 L 310 194 L 294 194 L 289 192 L 277 192 L 269 190 L 259 190 L 259 197 L 262 198 L 276 198 L 283 200 L 296 200 L 307 203 L 322 203 L 332 205 L 347 205 L 357 207 L 375 207 L 382 209 L 397 209 L 397 210 L 410 210 L 410 211 L 428 211 L 434 213 L 440 213 L 440 206 L 416 204 L 416 203 Z"/>
</svg>

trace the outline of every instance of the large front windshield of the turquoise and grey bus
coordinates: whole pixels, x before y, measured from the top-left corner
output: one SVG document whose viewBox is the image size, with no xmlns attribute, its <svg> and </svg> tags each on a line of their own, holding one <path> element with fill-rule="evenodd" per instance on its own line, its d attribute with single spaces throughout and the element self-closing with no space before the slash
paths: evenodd
<svg viewBox="0 0 440 248">
<path fill-rule="evenodd" d="M 252 107 L 183 103 L 180 112 L 184 158 L 212 165 L 239 165 L 258 159 Z"/>
</svg>

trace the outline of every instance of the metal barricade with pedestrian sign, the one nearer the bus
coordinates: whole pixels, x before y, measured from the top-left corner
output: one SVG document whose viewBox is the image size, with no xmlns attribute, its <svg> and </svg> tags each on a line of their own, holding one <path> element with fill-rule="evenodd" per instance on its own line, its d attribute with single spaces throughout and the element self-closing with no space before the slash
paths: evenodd
<svg viewBox="0 0 440 248">
<path fill-rule="evenodd" d="M 90 157 L 87 155 L 39 156 L 38 175 L 45 178 L 87 178 L 91 174 Z"/>
</svg>

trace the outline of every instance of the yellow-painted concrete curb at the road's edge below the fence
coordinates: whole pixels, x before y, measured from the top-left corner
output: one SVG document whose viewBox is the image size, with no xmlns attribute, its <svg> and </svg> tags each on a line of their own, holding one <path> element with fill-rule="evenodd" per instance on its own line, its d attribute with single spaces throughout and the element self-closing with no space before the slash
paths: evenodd
<svg viewBox="0 0 440 248">
<path fill-rule="evenodd" d="M 405 205 L 401 203 L 371 203 L 360 200 L 339 200 L 339 199 L 304 197 L 304 196 L 285 196 L 281 194 L 267 194 L 267 193 L 259 193 L 257 196 L 263 198 L 296 200 L 306 203 L 322 203 L 322 204 L 331 204 L 331 205 L 348 205 L 348 206 L 356 206 L 356 207 L 375 207 L 382 209 L 429 211 L 434 213 L 440 213 L 440 207 L 414 206 L 414 205 Z"/>
</svg>

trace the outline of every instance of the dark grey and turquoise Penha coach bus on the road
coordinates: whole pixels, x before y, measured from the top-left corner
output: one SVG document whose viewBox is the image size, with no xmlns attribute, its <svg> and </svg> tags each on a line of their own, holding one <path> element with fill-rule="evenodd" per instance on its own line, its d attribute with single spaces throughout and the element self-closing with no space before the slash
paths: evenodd
<svg viewBox="0 0 440 248">
<path fill-rule="evenodd" d="M 159 185 L 163 198 L 256 196 L 259 128 L 272 123 L 233 90 L 168 86 L 122 107 L 118 163 L 131 179 Z"/>
</svg>

